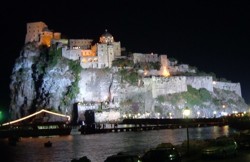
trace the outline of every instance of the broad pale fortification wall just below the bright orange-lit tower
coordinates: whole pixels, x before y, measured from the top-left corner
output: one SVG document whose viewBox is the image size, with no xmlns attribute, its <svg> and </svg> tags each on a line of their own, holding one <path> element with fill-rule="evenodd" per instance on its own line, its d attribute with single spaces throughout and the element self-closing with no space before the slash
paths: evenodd
<svg viewBox="0 0 250 162">
<path fill-rule="evenodd" d="M 169 78 L 152 77 L 153 98 L 159 95 L 186 92 L 187 84 L 185 76 L 175 76 Z"/>
</svg>

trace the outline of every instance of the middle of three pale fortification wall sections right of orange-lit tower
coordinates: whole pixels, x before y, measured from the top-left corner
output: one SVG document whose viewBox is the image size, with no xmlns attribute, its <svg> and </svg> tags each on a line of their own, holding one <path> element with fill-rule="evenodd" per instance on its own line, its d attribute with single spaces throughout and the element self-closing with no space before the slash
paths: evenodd
<svg viewBox="0 0 250 162">
<path fill-rule="evenodd" d="M 211 76 L 188 76 L 186 80 L 187 85 L 191 85 L 193 88 L 205 88 L 213 92 L 213 78 Z"/>
</svg>

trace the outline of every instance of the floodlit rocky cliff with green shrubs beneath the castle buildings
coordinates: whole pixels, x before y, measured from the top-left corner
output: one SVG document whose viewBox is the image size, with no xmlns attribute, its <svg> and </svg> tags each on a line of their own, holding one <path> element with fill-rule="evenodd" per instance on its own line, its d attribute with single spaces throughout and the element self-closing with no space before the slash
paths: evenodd
<svg viewBox="0 0 250 162">
<path fill-rule="evenodd" d="M 98 110 L 96 116 L 100 122 L 118 120 L 122 116 L 181 118 L 186 106 L 192 109 L 192 117 L 247 110 L 243 98 L 234 91 L 212 88 L 211 77 L 205 80 L 210 81 L 209 85 L 204 85 L 209 90 L 201 88 L 204 77 L 202 81 L 184 76 L 170 79 L 137 77 L 136 84 L 131 84 L 124 78 L 127 75 L 133 80 L 133 69 L 125 74 L 118 68 L 83 69 L 79 60 L 62 57 L 61 50 L 25 45 L 11 75 L 12 119 L 44 108 L 72 116 L 77 109 L 78 120 L 85 110 Z M 201 87 L 192 87 L 196 82 Z M 188 88 L 184 86 L 187 84 Z"/>
</svg>

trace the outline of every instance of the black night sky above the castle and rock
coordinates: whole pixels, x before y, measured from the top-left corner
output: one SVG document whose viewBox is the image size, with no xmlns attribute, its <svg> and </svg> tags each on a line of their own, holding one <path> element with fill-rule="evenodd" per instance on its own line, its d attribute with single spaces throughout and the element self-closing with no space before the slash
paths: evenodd
<svg viewBox="0 0 250 162">
<path fill-rule="evenodd" d="M 105 29 L 127 51 L 167 54 L 241 83 L 250 103 L 250 3 L 241 0 L 22 1 L 1 4 L 0 103 L 24 45 L 26 23 L 43 21 L 67 38 L 98 40 Z"/>
</svg>

